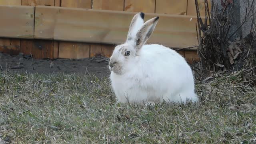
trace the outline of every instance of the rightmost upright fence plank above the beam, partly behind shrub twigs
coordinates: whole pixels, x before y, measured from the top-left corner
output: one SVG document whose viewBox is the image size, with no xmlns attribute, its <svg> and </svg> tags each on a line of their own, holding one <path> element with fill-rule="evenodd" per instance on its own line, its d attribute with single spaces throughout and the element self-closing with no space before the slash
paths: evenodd
<svg viewBox="0 0 256 144">
<path fill-rule="evenodd" d="M 211 9 L 211 0 L 208 0 L 209 9 Z M 201 17 L 205 16 L 204 0 L 198 0 L 198 8 L 200 10 Z M 196 16 L 196 4 L 194 0 L 188 0 L 188 11 L 187 15 Z"/>
</svg>

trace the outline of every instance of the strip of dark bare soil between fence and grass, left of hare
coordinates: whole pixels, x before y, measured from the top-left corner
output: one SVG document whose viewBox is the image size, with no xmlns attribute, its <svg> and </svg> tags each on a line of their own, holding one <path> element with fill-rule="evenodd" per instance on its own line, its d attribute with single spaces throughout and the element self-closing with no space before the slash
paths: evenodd
<svg viewBox="0 0 256 144">
<path fill-rule="evenodd" d="M 34 59 L 22 53 L 17 56 L 0 53 L 0 71 L 28 72 L 38 74 L 90 74 L 99 78 L 109 76 L 108 59 L 102 56 L 71 59 Z"/>
</svg>

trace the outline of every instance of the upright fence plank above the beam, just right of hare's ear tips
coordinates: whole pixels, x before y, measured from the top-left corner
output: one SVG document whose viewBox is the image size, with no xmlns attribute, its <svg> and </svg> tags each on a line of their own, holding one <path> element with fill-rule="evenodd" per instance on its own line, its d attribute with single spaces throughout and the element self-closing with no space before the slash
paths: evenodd
<svg viewBox="0 0 256 144">
<path fill-rule="evenodd" d="M 186 15 L 187 0 L 156 0 L 156 13 Z"/>
</svg>

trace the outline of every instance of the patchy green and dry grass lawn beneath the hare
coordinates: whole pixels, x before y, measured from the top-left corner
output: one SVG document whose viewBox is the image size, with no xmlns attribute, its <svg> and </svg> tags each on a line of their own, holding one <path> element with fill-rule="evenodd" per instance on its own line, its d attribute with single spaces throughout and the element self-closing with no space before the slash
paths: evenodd
<svg viewBox="0 0 256 144">
<path fill-rule="evenodd" d="M 256 88 L 198 83 L 198 104 L 115 102 L 107 78 L 0 74 L 0 144 L 256 143 Z"/>
</svg>

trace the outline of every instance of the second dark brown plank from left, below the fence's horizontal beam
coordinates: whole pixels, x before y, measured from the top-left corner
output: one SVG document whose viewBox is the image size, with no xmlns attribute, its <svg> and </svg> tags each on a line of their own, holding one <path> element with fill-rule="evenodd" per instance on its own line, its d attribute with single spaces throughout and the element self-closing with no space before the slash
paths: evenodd
<svg viewBox="0 0 256 144">
<path fill-rule="evenodd" d="M 24 54 L 32 54 L 33 58 L 53 58 L 53 41 L 21 40 L 20 51 Z"/>
</svg>

